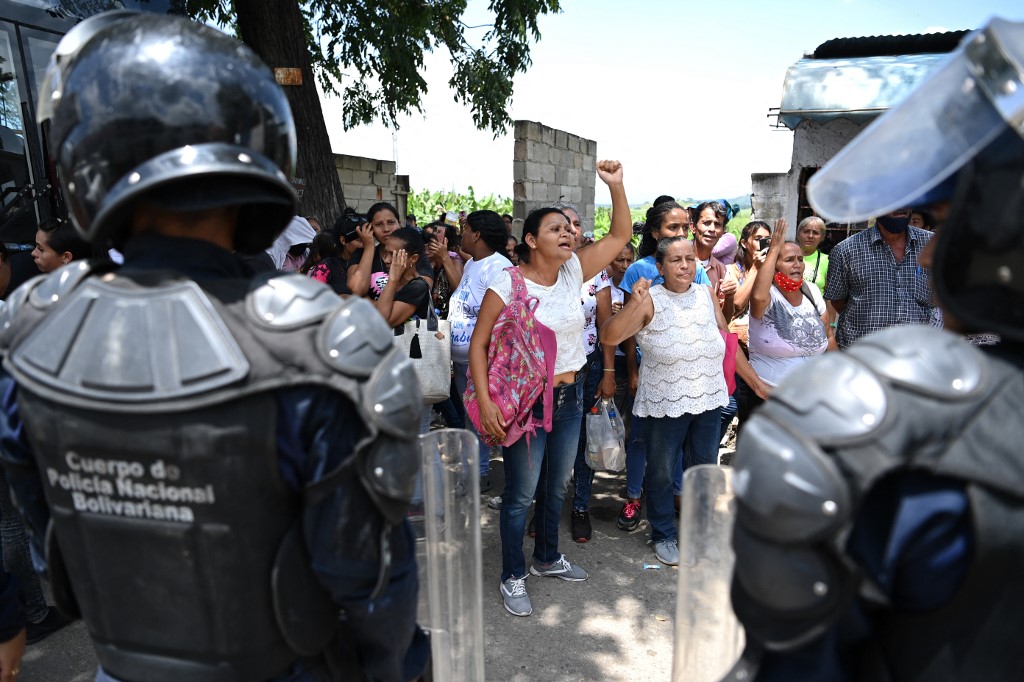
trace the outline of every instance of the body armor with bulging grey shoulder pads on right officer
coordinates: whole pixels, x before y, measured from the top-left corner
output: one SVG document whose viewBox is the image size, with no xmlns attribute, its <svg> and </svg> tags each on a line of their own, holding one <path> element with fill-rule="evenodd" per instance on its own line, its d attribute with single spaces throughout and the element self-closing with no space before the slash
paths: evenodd
<svg viewBox="0 0 1024 682">
<path fill-rule="evenodd" d="M 859 598 L 872 622 L 861 679 L 1024 677 L 1022 404 L 1019 364 L 929 328 L 879 332 L 794 372 L 737 447 L 733 606 L 748 636 L 797 649 Z M 961 481 L 970 504 L 967 573 L 916 613 L 846 553 L 865 496 L 901 471 Z"/>
</svg>

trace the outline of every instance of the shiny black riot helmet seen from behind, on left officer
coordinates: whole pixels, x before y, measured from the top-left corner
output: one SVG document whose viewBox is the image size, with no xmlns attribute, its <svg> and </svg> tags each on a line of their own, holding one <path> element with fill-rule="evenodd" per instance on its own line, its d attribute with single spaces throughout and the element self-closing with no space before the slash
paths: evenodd
<svg viewBox="0 0 1024 682">
<path fill-rule="evenodd" d="M 295 124 L 273 74 L 208 26 L 110 12 L 61 40 L 39 100 L 78 229 L 120 246 L 132 206 L 239 206 L 236 249 L 267 248 L 295 214 Z"/>
</svg>

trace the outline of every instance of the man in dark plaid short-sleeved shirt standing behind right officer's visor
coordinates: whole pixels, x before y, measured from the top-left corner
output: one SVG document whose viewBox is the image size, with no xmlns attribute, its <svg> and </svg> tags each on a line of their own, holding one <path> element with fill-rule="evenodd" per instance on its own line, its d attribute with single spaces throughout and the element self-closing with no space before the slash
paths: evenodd
<svg viewBox="0 0 1024 682">
<path fill-rule="evenodd" d="M 918 264 L 932 232 L 909 221 L 907 210 L 881 216 L 828 254 L 824 298 L 839 312 L 833 327 L 840 348 L 887 327 L 932 323 L 928 272 Z"/>
</svg>

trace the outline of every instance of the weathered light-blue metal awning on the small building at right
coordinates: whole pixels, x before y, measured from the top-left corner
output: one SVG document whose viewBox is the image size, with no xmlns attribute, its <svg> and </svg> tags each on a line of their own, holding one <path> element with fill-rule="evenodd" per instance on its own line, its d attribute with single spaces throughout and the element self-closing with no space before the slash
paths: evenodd
<svg viewBox="0 0 1024 682">
<path fill-rule="evenodd" d="M 779 124 L 836 118 L 862 123 L 900 102 L 947 54 L 801 59 L 785 74 Z"/>
</svg>

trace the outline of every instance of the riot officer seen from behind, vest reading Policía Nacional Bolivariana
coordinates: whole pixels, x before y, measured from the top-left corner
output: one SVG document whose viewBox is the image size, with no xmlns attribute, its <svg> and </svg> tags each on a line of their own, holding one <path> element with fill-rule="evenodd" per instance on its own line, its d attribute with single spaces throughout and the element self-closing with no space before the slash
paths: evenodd
<svg viewBox="0 0 1024 682">
<path fill-rule="evenodd" d="M 88 19 L 40 93 L 76 263 L 8 299 L 3 459 L 100 680 L 408 680 L 415 374 L 372 306 L 252 279 L 295 213 L 296 139 L 237 40 Z"/>
</svg>

